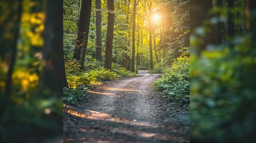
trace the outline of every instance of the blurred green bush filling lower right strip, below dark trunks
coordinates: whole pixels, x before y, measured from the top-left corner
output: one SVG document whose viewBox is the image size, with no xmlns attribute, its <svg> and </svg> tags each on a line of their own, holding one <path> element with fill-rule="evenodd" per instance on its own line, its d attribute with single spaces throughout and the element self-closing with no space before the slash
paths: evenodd
<svg viewBox="0 0 256 143">
<path fill-rule="evenodd" d="M 243 142 L 238 138 L 246 136 L 251 142 L 249 136 L 255 135 L 256 90 L 251 79 L 256 78 L 256 51 L 248 37 L 239 39 L 234 49 L 216 47 L 201 57 L 192 56 L 193 138 Z"/>
</svg>

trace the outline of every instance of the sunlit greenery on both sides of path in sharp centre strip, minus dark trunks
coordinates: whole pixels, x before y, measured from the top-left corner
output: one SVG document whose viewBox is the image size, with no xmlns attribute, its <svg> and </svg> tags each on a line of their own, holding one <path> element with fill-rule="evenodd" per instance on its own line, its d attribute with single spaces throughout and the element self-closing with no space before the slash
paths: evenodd
<svg viewBox="0 0 256 143">
<path fill-rule="evenodd" d="M 95 9 L 95 2 L 91 3 L 85 70 L 80 70 L 79 60 L 72 60 L 79 28 L 79 3 L 64 1 L 64 57 L 69 88 L 81 85 L 90 88 L 101 81 L 135 76 L 134 64 L 138 70 L 162 73 L 155 83 L 156 89 L 163 91 L 171 101 L 189 105 L 189 1 L 115 2 L 111 70 L 104 69 L 106 53 L 102 53 L 102 61 L 97 58 L 101 55 L 98 55 L 97 13 L 102 15 L 102 49 L 107 50 L 107 4 L 101 2 L 99 11 Z M 134 4 L 137 4 L 135 15 Z M 70 97 L 70 94 L 64 96 Z"/>
</svg>

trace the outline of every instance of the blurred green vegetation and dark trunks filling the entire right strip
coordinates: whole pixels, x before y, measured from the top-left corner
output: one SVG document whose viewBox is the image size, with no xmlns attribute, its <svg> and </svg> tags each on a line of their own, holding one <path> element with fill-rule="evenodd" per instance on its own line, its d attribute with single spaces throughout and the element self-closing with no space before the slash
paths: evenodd
<svg viewBox="0 0 256 143">
<path fill-rule="evenodd" d="M 190 38 L 191 139 L 255 142 L 256 33 L 250 25 L 255 23 L 256 2 L 211 2 L 192 5 L 205 9 L 191 13 L 196 19 Z"/>
</svg>

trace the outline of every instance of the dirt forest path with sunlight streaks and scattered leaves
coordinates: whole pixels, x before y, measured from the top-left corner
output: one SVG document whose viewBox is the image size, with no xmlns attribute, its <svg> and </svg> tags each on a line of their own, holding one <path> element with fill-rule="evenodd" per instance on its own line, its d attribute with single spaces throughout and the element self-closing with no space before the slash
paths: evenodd
<svg viewBox="0 0 256 143">
<path fill-rule="evenodd" d="M 160 76 L 139 71 L 65 105 L 64 142 L 189 142 L 189 111 L 152 89 Z"/>
</svg>

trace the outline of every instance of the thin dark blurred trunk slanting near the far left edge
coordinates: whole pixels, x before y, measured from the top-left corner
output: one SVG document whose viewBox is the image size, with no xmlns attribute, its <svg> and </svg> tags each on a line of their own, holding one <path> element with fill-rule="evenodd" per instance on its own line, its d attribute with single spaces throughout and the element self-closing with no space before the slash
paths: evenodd
<svg viewBox="0 0 256 143">
<path fill-rule="evenodd" d="M 21 20 L 21 12 L 22 12 L 22 1 L 18 1 L 18 11 L 17 11 L 17 20 L 15 22 L 14 27 L 14 38 L 13 42 L 11 43 L 11 60 L 10 65 L 8 67 L 8 73 L 7 73 L 7 80 L 5 82 L 5 94 L 8 95 L 11 92 L 11 77 L 13 75 L 14 65 L 16 63 L 16 55 L 17 55 L 17 41 L 20 33 L 20 20 Z"/>
</svg>

